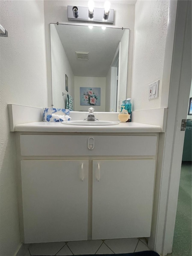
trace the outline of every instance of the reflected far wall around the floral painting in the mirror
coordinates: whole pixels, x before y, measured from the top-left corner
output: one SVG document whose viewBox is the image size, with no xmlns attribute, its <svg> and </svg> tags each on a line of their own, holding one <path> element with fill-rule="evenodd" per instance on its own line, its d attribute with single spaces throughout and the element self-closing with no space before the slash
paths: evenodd
<svg viewBox="0 0 192 256">
<path fill-rule="evenodd" d="M 105 111 L 105 77 L 75 77 L 75 111 L 88 111 L 89 107 L 94 107 L 95 111 Z M 80 105 L 80 87 L 100 87 L 101 88 L 101 106 L 81 106 Z"/>
</svg>

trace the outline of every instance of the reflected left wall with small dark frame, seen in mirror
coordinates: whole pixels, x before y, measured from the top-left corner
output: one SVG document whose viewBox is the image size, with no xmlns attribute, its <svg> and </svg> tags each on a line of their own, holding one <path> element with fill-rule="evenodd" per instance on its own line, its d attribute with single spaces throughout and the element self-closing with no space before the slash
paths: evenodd
<svg viewBox="0 0 192 256">
<path fill-rule="evenodd" d="M 66 108 L 69 93 L 74 99 L 74 74 L 61 44 L 61 40 L 55 28 L 51 24 L 51 68 L 52 68 L 52 98 L 53 107 Z M 65 74 L 68 77 L 68 92 L 65 90 Z M 73 106 L 74 107 L 74 106 Z"/>
</svg>

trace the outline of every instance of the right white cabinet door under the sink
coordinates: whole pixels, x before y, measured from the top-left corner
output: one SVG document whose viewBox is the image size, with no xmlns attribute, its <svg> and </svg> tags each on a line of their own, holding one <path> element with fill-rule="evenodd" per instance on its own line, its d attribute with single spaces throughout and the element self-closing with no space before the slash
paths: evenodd
<svg viewBox="0 0 192 256">
<path fill-rule="evenodd" d="M 155 160 L 93 160 L 92 239 L 149 237 Z"/>
</svg>

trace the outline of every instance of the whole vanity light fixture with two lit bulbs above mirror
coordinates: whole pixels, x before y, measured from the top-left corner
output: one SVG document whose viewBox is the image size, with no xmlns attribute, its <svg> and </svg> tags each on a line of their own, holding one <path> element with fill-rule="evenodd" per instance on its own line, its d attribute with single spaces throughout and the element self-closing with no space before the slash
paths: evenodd
<svg viewBox="0 0 192 256">
<path fill-rule="evenodd" d="M 104 8 L 94 8 L 94 2 L 88 2 L 88 7 L 67 6 L 68 20 L 82 21 L 91 23 L 109 23 L 114 22 L 114 10 L 110 9 L 110 2 L 106 1 Z"/>
</svg>

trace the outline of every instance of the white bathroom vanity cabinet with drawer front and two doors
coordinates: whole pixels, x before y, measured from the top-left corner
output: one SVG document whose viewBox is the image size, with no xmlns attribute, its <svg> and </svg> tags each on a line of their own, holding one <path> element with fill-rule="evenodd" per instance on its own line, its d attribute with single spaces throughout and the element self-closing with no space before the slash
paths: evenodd
<svg viewBox="0 0 192 256">
<path fill-rule="evenodd" d="M 149 237 L 158 133 L 16 132 L 23 241 Z"/>
</svg>

